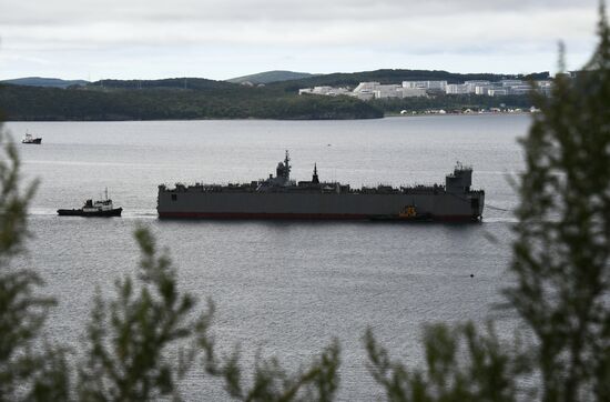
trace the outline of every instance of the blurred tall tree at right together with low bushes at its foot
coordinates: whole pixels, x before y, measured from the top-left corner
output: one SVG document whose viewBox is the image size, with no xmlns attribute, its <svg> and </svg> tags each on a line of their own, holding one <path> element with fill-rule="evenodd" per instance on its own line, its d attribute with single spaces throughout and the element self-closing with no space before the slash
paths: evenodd
<svg viewBox="0 0 610 402">
<path fill-rule="evenodd" d="M 506 294 L 533 342 L 509 348 L 470 323 L 440 324 L 426 331 L 425 369 L 409 369 L 369 332 L 370 371 L 389 400 L 610 400 L 610 30 L 600 16 L 591 62 L 559 74 L 552 97 L 535 96 L 541 112 L 522 140 Z M 519 385 L 525 374 L 539 379 L 533 389 Z"/>
</svg>

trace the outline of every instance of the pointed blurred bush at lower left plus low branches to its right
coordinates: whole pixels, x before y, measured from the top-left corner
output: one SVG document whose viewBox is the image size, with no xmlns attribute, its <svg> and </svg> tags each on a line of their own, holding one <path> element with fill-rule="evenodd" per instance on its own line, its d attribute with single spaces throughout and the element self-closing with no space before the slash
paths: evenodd
<svg viewBox="0 0 610 402">
<path fill-rule="evenodd" d="M 338 385 L 339 349 L 328 346 L 307 369 L 288 374 L 275 359 L 261 360 L 252 384 L 242 379 L 238 354 L 221 358 L 209 334 L 213 304 L 193 318 L 196 300 L 181 293 L 176 271 L 159 253 L 150 232 L 135 238 L 142 253 L 138 281 L 116 282 L 116 297 L 95 299 L 88 325 L 85 360 L 79 369 L 81 401 L 180 399 L 179 380 L 195 360 L 211 379 L 225 381 L 242 401 L 331 401 Z M 180 346 L 182 344 L 182 346 Z"/>
</svg>

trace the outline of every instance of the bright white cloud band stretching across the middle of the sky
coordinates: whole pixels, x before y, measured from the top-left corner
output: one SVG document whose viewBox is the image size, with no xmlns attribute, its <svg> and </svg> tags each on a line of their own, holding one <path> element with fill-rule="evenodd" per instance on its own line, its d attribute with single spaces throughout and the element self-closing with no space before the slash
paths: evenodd
<svg viewBox="0 0 610 402">
<path fill-rule="evenodd" d="M 6 27 L 3 34 L 12 41 L 45 43 L 91 43 L 112 46 L 165 43 L 220 43 L 252 46 L 372 46 L 411 43 L 414 47 L 489 44 L 494 42 L 540 42 L 561 38 L 582 39 L 593 32 L 594 12 L 587 9 L 519 12 L 461 11 L 419 18 L 397 17 L 325 21 L 183 20 L 165 21 L 74 21 L 72 26 Z"/>
</svg>

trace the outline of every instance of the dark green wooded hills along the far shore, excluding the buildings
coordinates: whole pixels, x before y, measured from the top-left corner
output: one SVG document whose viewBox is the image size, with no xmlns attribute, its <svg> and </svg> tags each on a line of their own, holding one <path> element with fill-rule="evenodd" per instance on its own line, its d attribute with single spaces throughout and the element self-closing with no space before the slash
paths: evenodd
<svg viewBox="0 0 610 402">
<path fill-rule="evenodd" d="M 540 78 L 547 73 L 537 74 Z M 348 97 L 298 96 L 299 88 L 356 86 L 360 81 L 464 80 L 520 76 L 455 74 L 446 71 L 377 70 L 314 76 L 266 86 L 197 78 L 103 80 L 65 89 L 0 84 L 8 120 L 182 120 L 182 119 L 372 119 L 401 109 L 528 107 L 528 97 L 410 98 L 363 102 Z M 537 77 L 538 78 L 538 77 Z"/>
</svg>

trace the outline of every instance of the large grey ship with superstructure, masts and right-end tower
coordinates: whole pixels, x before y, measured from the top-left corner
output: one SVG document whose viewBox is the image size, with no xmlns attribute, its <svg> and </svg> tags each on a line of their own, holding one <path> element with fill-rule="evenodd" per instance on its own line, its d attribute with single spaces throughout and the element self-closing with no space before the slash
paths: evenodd
<svg viewBox="0 0 610 402">
<path fill-rule="evenodd" d="M 471 190 L 472 168 L 457 164 L 445 184 L 352 189 L 321 182 L 317 167 L 311 181 L 291 180 L 286 151 L 275 177 L 240 184 L 159 185 L 160 218 L 479 221 L 485 191 Z"/>
</svg>

